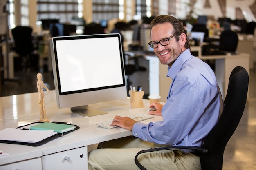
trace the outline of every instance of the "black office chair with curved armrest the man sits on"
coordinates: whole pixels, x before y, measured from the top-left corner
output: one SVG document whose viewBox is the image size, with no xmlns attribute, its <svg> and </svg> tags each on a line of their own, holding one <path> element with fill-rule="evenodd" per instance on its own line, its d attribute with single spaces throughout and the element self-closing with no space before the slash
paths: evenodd
<svg viewBox="0 0 256 170">
<path fill-rule="evenodd" d="M 146 170 L 139 163 L 138 156 L 146 152 L 173 149 L 192 149 L 198 153 L 202 170 L 222 170 L 223 153 L 225 146 L 233 135 L 245 108 L 249 76 L 245 68 L 237 66 L 233 69 L 229 77 L 227 95 L 224 100 L 225 106 L 218 123 L 205 137 L 202 147 L 195 146 L 169 146 L 163 148 L 153 148 L 141 150 L 135 156 L 135 163 L 141 170 Z"/>
</svg>

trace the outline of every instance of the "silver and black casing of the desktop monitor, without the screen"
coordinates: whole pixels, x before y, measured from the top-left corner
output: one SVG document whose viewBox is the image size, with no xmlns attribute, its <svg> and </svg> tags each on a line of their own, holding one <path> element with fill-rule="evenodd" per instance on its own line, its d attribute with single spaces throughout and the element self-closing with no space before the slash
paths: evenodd
<svg viewBox="0 0 256 170">
<path fill-rule="evenodd" d="M 119 53 L 120 53 L 120 60 L 121 60 L 121 66 L 122 66 L 122 81 L 123 84 L 120 84 L 119 87 L 113 87 L 113 88 L 104 88 L 101 90 L 94 90 L 94 91 L 76 91 L 77 93 L 62 93 L 60 95 L 59 90 L 59 82 L 58 81 L 58 75 L 56 72 L 56 68 L 58 65 L 56 65 L 56 56 L 54 50 L 54 39 L 74 39 L 74 38 L 93 38 L 93 37 L 112 37 L 117 36 L 119 41 Z M 50 51 L 51 51 L 51 57 L 52 57 L 52 68 L 53 68 L 53 77 L 54 77 L 54 86 L 55 86 L 55 93 L 56 93 L 56 104 L 58 108 L 71 108 L 71 112 L 74 114 L 82 115 L 83 117 L 89 117 L 92 115 L 99 115 L 103 114 L 102 110 L 96 110 L 95 113 L 92 114 L 92 108 L 88 105 L 90 104 L 96 104 L 101 102 L 109 102 L 113 100 L 119 100 L 119 99 L 126 99 L 127 98 L 127 89 L 126 89 L 126 75 L 124 72 L 124 56 L 123 56 L 123 49 L 121 44 L 121 35 L 116 33 L 112 34 L 93 34 L 93 35 L 72 35 L 72 36 L 63 36 L 63 37 L 52 37 L 50 38 Z M 56 45 L 56 44 L 55 44 Z M 104 54 L 104 53 L 103 53 Z M 58 63 L 57 63 L 58 64 Z M 99 112 L 100 111 L 100 112 Z M 107 113 L 106 111 L 104 113 Z"/>
</svg>

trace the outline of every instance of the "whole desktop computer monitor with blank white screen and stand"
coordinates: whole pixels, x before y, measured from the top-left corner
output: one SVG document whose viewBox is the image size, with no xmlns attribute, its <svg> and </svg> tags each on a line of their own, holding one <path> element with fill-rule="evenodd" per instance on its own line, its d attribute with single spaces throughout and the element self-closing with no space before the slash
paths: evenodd
<svg viewBox="0 0 256 170">
<path fill-rule="evenodd" d="M 107 113 L 89 104 L 127 97 L 120 34 L 50 39 L 58 108 L 89 117 Z"/>
</svg>

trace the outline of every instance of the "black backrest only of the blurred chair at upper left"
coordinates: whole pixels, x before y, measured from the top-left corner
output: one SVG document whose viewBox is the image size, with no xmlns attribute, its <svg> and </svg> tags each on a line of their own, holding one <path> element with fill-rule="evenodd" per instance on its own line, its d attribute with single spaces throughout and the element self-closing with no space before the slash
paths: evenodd
<svg viewBox="0 0 256 170">
<path fill-rule="evenodd" d="M 29 26 L 16 26 L 11 30 L 15 51 L 19 55 L 27 55 L 33 51 L 32 31 L 32 28 Z"/>
</svg>

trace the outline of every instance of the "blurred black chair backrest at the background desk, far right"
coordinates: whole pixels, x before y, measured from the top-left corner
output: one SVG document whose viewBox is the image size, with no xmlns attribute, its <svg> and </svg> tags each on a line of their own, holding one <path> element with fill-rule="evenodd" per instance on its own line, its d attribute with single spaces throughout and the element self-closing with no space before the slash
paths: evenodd
<svg viewBox="0 0 256 170">
<path fill-rule="evenodd" d="M 220 47 L 222 51 L 235 52 L 238 44 L 238 35 L 234 31 L 225 30 L 220 35 Z"/>
</svg>

